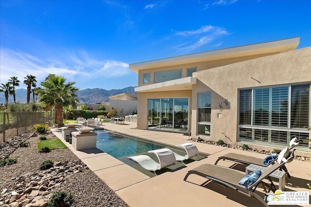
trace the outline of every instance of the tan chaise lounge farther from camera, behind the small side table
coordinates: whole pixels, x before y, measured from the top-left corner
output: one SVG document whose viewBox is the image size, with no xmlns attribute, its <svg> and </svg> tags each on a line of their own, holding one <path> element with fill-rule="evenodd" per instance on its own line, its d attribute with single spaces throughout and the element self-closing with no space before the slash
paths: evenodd
<svg viewBox="0 0 311 207">
<path fill-rule="evenodd" d="M 294 137 L 290 142 L 290 150 L 293 149 L 298 144 L 299 143 L 296 142 L 296 137 Z M 241 154 L 237 154 L 237 153 L 227 153 L 227 154 L 219 157 L 216 160 L 215 165 L 221 159 L 222 160 L 231 160 L 231 161 L 243 164 L 245 166 L 250 165 L 250 164 L 255 164 L 255 165 L 266 167 L 266 166 L 269 166 L 270 164 L 273 164 L 276 161 L 277 157 L 275 159 L 270 160 L 270 162 L 268 164 L 264 164 L 263 159 L 260 159 L 260 158 L 256 158 L 256 157 L 252 157 L 252 156 L 245 156 L 245 155 L 241 155 Z M 282 166 L 282 170 L 284 170 L 284 172 L 287 174 L 288 177 L 291 177 L 291 175 L 289 174 L 285 165 Z"/>
</svg>

